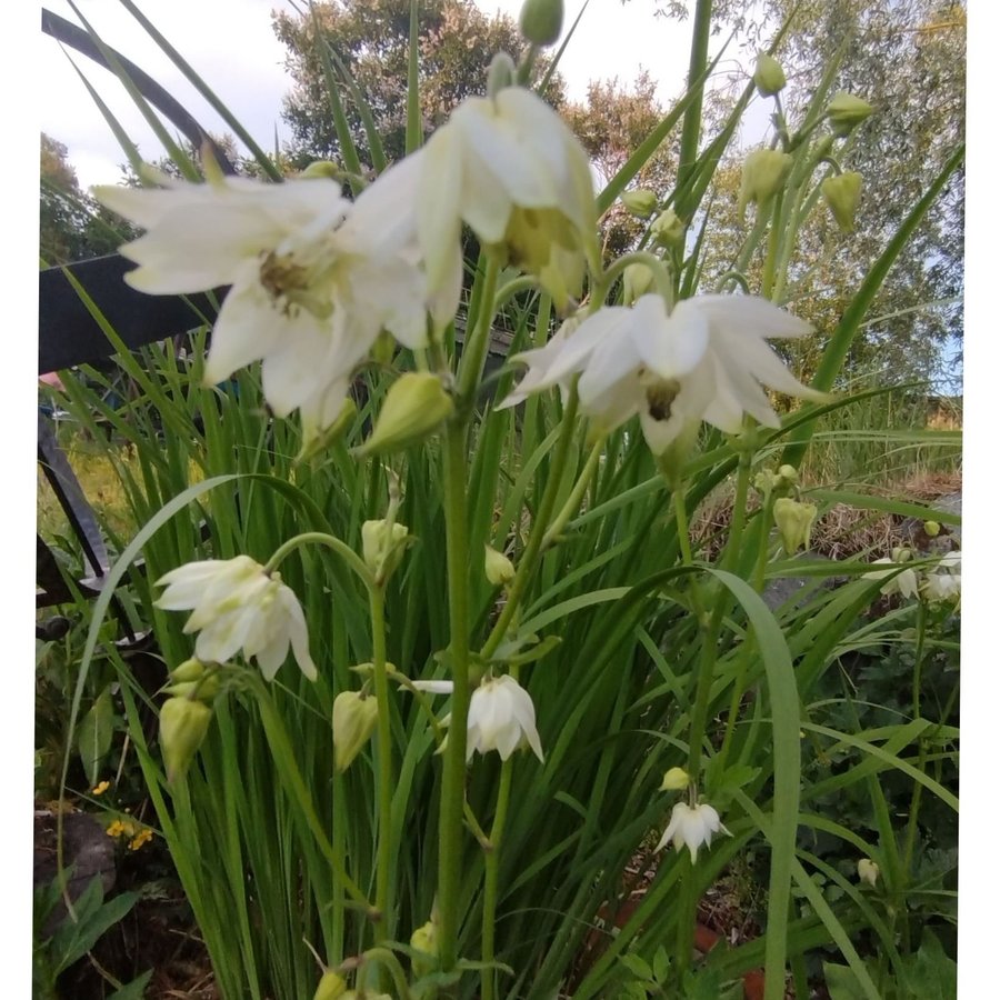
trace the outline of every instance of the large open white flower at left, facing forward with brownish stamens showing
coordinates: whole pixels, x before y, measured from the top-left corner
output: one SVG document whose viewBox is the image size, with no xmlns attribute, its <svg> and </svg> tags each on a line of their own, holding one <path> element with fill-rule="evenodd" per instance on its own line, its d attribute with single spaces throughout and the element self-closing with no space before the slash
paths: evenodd
<svg viewBox="0 0 1000 1000">
<path fill-rule="evenodd" d="M 262 360 L 268 403 L 279 417 L 299 409 L 309 438 L 339 416 L 352 370 L 382 329 L 423 347 L 428 311 L 439 323 L 453 312 L 460 276 L 431 296 L 420 268 L 418 166 L 389 169 L 353 203 L 324 178 L 192 184 L 158 174 L 161 189 L 96 194 L 148 230 L 121 251 L 139 264 L 127 276 L 134 288 L 174 294 L 232 286 L 206 382 Z"/>
</svg>

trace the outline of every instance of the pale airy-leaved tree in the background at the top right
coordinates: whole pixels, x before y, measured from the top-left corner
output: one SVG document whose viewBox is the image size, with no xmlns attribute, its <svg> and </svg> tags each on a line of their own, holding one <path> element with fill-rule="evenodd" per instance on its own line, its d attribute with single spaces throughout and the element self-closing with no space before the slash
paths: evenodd
<svg viewBox="0 0 1000 1000">
<path fill-rule="evenodd" d="M 664 0 L 656 8 L 673 18 L 686 13 L 683 4 Z M 777 52 L 789 80 L 782 99 L 791 120 L 838 56 L 833 91 L 857 94 L 874 108 L 840 161 L 864 179 L 856 230 L 841 234 L 820 201 L 802 232 L 801 263 L 789 289 L 796 312 L 829 332 L 863 278 L 860 261 L 873 260 L 884 249 L 889 234 L 964 138 L 964 4 L 763 0 L 748 7 L 741 0 L 717 0 L 713 14 L 717 24 L 746 39 L 748 66 L 791 18 Z M 736 81 L 730 102 L 746 82 Z M 711 134 L 707 131 L 704 141 Z M 742 238 L 736 202 L 743 156 L 728 151 L 729 169 L 717 173 L 707 200 L 712 203 L 709 242 L 714 251 L 707 278 L 727 269 Z M 876 319 L 854 341 L 842 378 L 908 381 L 948 374 L 942 357 L 958 350 L 962 339 L 963 202 L 964 170 L 959 168 L 890 271 L 870 311 Z M 731 239 L 719 239 L 723 230 Z M 812 350 L 821 350 L 821 342 Z M 809 378 L 816 360 L 800 358 L 800 376 Z"/>
</svg>

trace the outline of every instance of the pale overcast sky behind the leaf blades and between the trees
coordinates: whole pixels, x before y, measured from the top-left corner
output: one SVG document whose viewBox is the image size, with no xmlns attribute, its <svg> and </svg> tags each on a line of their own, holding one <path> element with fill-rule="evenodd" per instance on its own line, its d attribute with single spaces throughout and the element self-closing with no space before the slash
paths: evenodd
<svg viewBox="0 0 1000 1000">
<path fill-rule="evenodd" d="M 138 0 L 158 30 L 191 63 L 266 150 L 288 137 L 281 120 L 281 99 L 290 89 L 284 47 L 271 27 L 272 10 L 291 10 L 288 0 Z M 477 0 L 488 13 L 517 17 L 521 0 Z M 68 0 L 42 4 L 79 22 Z M 569 0 L 569 27 L 582 0 Z M 78 0 L 78 7 L 101 38 L 167 88 L 207 129 L 221 132 L 224 123 L 183 79 L 141 26 L 113 0 Z M 591 0 L 561 62 L 570 97 L 582 99 L 592 79 L 618 77 L 634 81 L 647 69 L 660 82 L 663 103 L 683 84 L 691 22 L 653 16 L 653 0 Z M 713 49 L 718 49 L 713 40 Z M 67 57 L 69 53 L 69 58 Z M 736 52 L 733 52 L 736 54 Z M 149 159 L 161 156 L 159 142 L 121 84 L 90 59 L 63 49 L 43 36 L 39 46 L 39 127 L 69 149 L 70 161 L 86 188 L 114 183 L 124 162 L 111 130 L 87 92 L 72 59 L 128 134 Z M 728 68 L 733 69 L 734 62 Z M 763 107 L 763 106 L 761 106 Z"/>
</svg>

